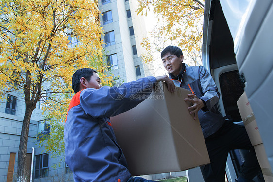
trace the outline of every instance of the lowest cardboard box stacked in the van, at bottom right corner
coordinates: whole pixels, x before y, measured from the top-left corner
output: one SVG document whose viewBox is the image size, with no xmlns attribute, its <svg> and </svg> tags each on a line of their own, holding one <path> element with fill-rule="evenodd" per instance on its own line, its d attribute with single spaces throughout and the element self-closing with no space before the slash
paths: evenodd
<svg viewBox="0 0 273 182">
<path fill-rule="evenodd" d="M 256 145 L 254 146 L 254 149 L 255 149 L 260 167 L 262 169 L 264 180 L 266 182 L 273 182 L 273 173 L 272 173 L 269 161 L 267 159 L 267 155 L 265 153 L 264 145 L 263 144 Z"/>
</svg>

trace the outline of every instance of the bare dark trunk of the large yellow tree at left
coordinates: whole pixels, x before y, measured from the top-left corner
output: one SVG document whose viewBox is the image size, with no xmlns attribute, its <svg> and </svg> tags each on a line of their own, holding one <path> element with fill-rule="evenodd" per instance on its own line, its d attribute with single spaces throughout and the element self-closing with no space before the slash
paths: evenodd
<svg viewBox="0 0 273 182">
<path fill-rule="evenodd" d="M 20 146 L 18 152 L 18 172 L 17 182 L 27 182 L 27 145 L 28 145 L 28 134 L 29 125 L 32 112 L 34 110 L 33 104 L 26 103 L 26 112 L 23 120 L 23 126 L 21 131 Z"/>
</svg>

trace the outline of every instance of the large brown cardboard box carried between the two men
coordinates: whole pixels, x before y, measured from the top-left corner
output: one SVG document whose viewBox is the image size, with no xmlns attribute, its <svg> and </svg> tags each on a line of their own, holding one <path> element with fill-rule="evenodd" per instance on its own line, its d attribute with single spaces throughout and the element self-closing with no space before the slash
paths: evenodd
<svg viewBox="0 0 273 182">
<path fill-rule="evenodd" d="M 190 91 L 163 83 L 135 108 L 111 118 L 133 176 L 184 171 L 210 163 L 199 120 L 188 112 Z"/>
</svg>

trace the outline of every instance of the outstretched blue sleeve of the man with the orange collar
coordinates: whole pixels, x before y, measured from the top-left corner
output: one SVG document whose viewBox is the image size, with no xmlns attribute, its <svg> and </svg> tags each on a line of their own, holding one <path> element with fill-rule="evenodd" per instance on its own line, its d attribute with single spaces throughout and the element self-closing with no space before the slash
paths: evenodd
<svg viewBox="0 0 273 182">
<path fill-rule="evenodd" d="M 80 103 L 85 113 L 93 118 L 115 116 L 134 108 L 147 98 L 155 82 L 156 79 L 149 76 L 120 87 L 87 88 L 81 92 Z M 141 96 L 136 97 L 137 94 Z"/>
</svg>

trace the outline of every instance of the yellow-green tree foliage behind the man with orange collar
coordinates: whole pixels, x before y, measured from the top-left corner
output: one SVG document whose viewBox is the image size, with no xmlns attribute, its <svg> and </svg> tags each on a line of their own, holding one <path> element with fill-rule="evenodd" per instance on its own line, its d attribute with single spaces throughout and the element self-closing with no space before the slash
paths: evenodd
<svg viewBox="0 0 273 182">
<path fill-rule="evenodd" d="M 103 50 L 104 51 L 104 50 Z M 89 58 L 88 58 L 89 59 Z M 105 58 L 106 59 L 106 58 Z M 98 71 L 98 74 L 101 78 L 102 86 L 108 85 L 113 86 L 114 77 L 113 75 L 104 74 L 108 71 L 109 66 L 105 65 L 102 67 L 102 62 L 98 62 L 97 60 L 88 60 L 90 67 Z M 105 64 L 105 63 L 104 63 Z M 46 102 L 46 106 L 44 107 L 44 124 L 47 127 L 45 129 L 50 129 L 50 134 L 39 133 L 37 136 L 38 146 L 43 148 L 43 151 L 51 153 L 52 158 L 58 158 L 59 163 L 53 165 L 53 167 L 58 167 L 61 165 L 61 162 L 64 161 L 64 152 L 65 152 L 65 142 L 64 142 L 64 123 L 66 120 L 66 114 L 68 110 L 69 103 L 71 101 L 74 92 L 67 92 L 65 94 L 56 94 L 53 93 L 51 95 L 50 100 L 42 99 Z M 63 104 L 56 104 L 56 100 L 62 100 Z M 60 158 L 61 157 L 61 158 Z"/>
</svg>

